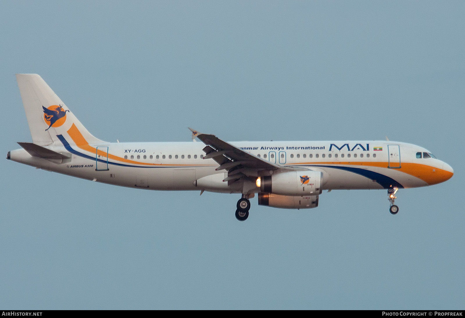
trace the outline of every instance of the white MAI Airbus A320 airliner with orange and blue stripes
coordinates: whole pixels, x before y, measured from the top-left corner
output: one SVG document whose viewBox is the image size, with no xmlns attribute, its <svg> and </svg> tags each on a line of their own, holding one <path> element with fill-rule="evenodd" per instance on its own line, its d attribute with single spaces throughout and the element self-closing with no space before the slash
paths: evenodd
<svg viewBox="0 0 465 318">
<path fill-rule="evenodd" d="M 255 194 L 259 205 L 311 209 L 333 189 L 387 189 L 397 214 L 399 189 L 453 175 L 427 149 L 387 138 L 226 142 L 189 128 L 194 142 L 109 143 L 89 133 L 39 75 L 16 79 L 33 142 L 18 142 L 21 149 L 7 159 L 117 186 L 237 193 L 239 221 L 248 218 Z"/>
</svg>

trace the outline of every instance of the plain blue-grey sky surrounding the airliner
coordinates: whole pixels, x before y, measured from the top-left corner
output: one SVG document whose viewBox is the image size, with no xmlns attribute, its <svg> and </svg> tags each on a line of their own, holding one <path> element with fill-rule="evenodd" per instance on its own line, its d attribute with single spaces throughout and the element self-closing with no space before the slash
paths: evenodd
<svg viewBox="0 0 465 318">
<path fill-rule="evenodd" d="M 319 207 L 103 185 L 0 160 L 0 308 L 463 309 L 463 1 L 2 1 L 4 158 L 31 141 L 15 73 L 96 137 L 388 136 L 455 175 Z"/>
</svg>

